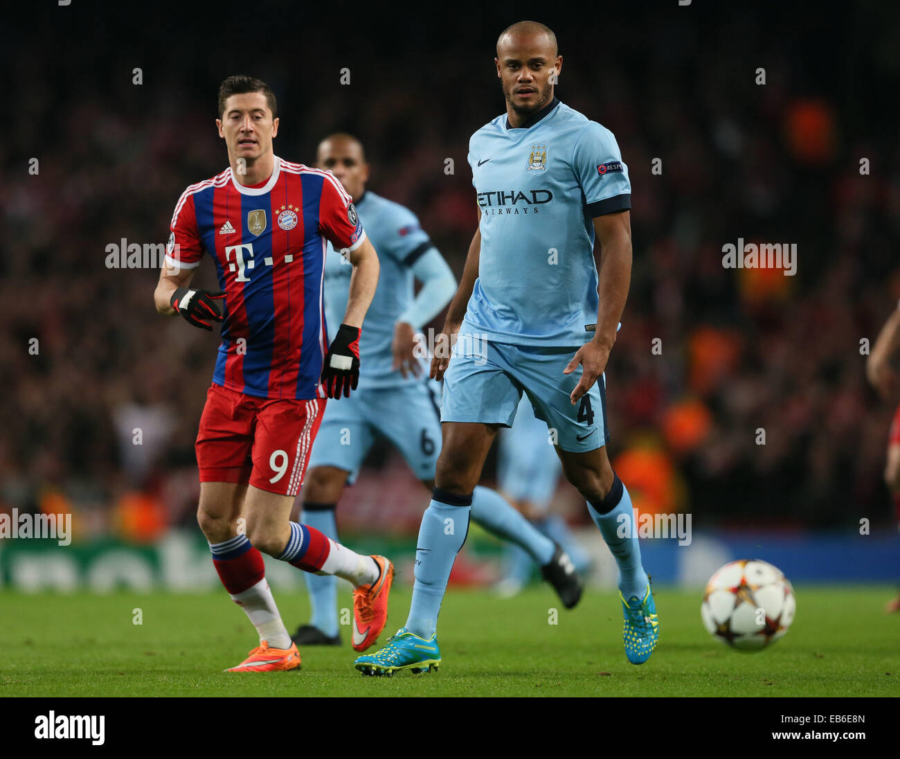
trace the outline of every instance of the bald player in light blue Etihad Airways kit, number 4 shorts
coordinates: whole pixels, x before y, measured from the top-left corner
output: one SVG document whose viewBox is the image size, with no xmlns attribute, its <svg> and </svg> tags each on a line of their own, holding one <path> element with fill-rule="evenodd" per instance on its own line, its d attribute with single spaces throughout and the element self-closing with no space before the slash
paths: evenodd
<svg viewBox="0 0 900 759">
<path fill-rule="evenodd" d="M 523 392 L 555 430 L 563 473 L 616 557 L 628 661 L 644 663 L 659 635 L 631 499 L 606 450 L 603 374 L 631 277 L 626 166 L 610 131 L 554 96 L 563 59 L 544 24 L 502 32 L 495 64 L 507 108 L 469 142 L 479 226 L 444 325 L 446 344 L 457 338 L 452 356 L 436 353 L 431 364 L 444 379 L 444 447 L 419 529 L 410 616 L 387 646 L 356 659 L 364 674 L 440 663 L 437 614 L 473 488 Z M 474 355 L 485 345 L 486 363 Z"/>
</svg>

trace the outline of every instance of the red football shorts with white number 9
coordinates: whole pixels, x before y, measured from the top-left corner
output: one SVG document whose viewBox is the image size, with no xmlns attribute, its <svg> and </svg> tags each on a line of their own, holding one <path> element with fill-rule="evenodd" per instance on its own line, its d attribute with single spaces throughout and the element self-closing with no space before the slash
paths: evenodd
<svg viewBox="0 0 900 759">
<path fill-rule="evenodd" d="M 257 398 L 211 385 L 197 434 L 200 482 L 296 495 L 326 400 Z"/>
</svg>

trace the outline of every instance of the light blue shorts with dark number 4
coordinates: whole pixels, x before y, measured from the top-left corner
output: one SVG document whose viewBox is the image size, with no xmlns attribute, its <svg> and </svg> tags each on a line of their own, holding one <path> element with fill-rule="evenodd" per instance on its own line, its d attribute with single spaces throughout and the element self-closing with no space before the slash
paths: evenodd
<svg viewBox="0 0 900 759">
<path fill-rule="evenodd" d="M 605 446 L 606 375 L 573 405 L 569 396 L 581 378 L 581 366 L 571 375 L 563 375 L 563 369 L 575 350 L 460 339 L 444 375 L 441 421 L 511 427 L 526 393 L 555 445 L 572 452 Z"/>
</svg>

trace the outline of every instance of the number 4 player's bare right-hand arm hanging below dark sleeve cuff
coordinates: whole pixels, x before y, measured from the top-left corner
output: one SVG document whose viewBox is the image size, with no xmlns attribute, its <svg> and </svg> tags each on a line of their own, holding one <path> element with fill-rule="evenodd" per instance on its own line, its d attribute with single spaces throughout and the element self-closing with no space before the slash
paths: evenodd
<svg viewBox="0 0 900 759">
<path fill-rule="evenodd" d="M 631 212 L 598 216 L 594 219 L 594 231 L 600 245 L 597 327 L 594 337 L 578 349 L 563 370 L 563 374 L 571 375 L 579 364 L 582 367 L 581 379 L 569 396 L 573 404 L 606 369 L 631 284 Z"/>
</svg>

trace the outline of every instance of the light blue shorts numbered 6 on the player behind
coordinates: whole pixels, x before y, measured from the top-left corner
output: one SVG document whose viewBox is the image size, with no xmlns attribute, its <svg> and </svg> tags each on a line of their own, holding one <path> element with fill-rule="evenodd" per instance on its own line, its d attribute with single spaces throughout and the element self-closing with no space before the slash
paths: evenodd
<svg viewBox="0 0 900 759">
<path fill-rule="evenodd" d="M 378 390 L 356 390 L 329 399 L 309 468 L 337 466 L 352 484 L 380 433 L 401 452 L 420 480 L 435 478 L 441 452 L 440 384 L 434 380 Z"/>
</svg>

